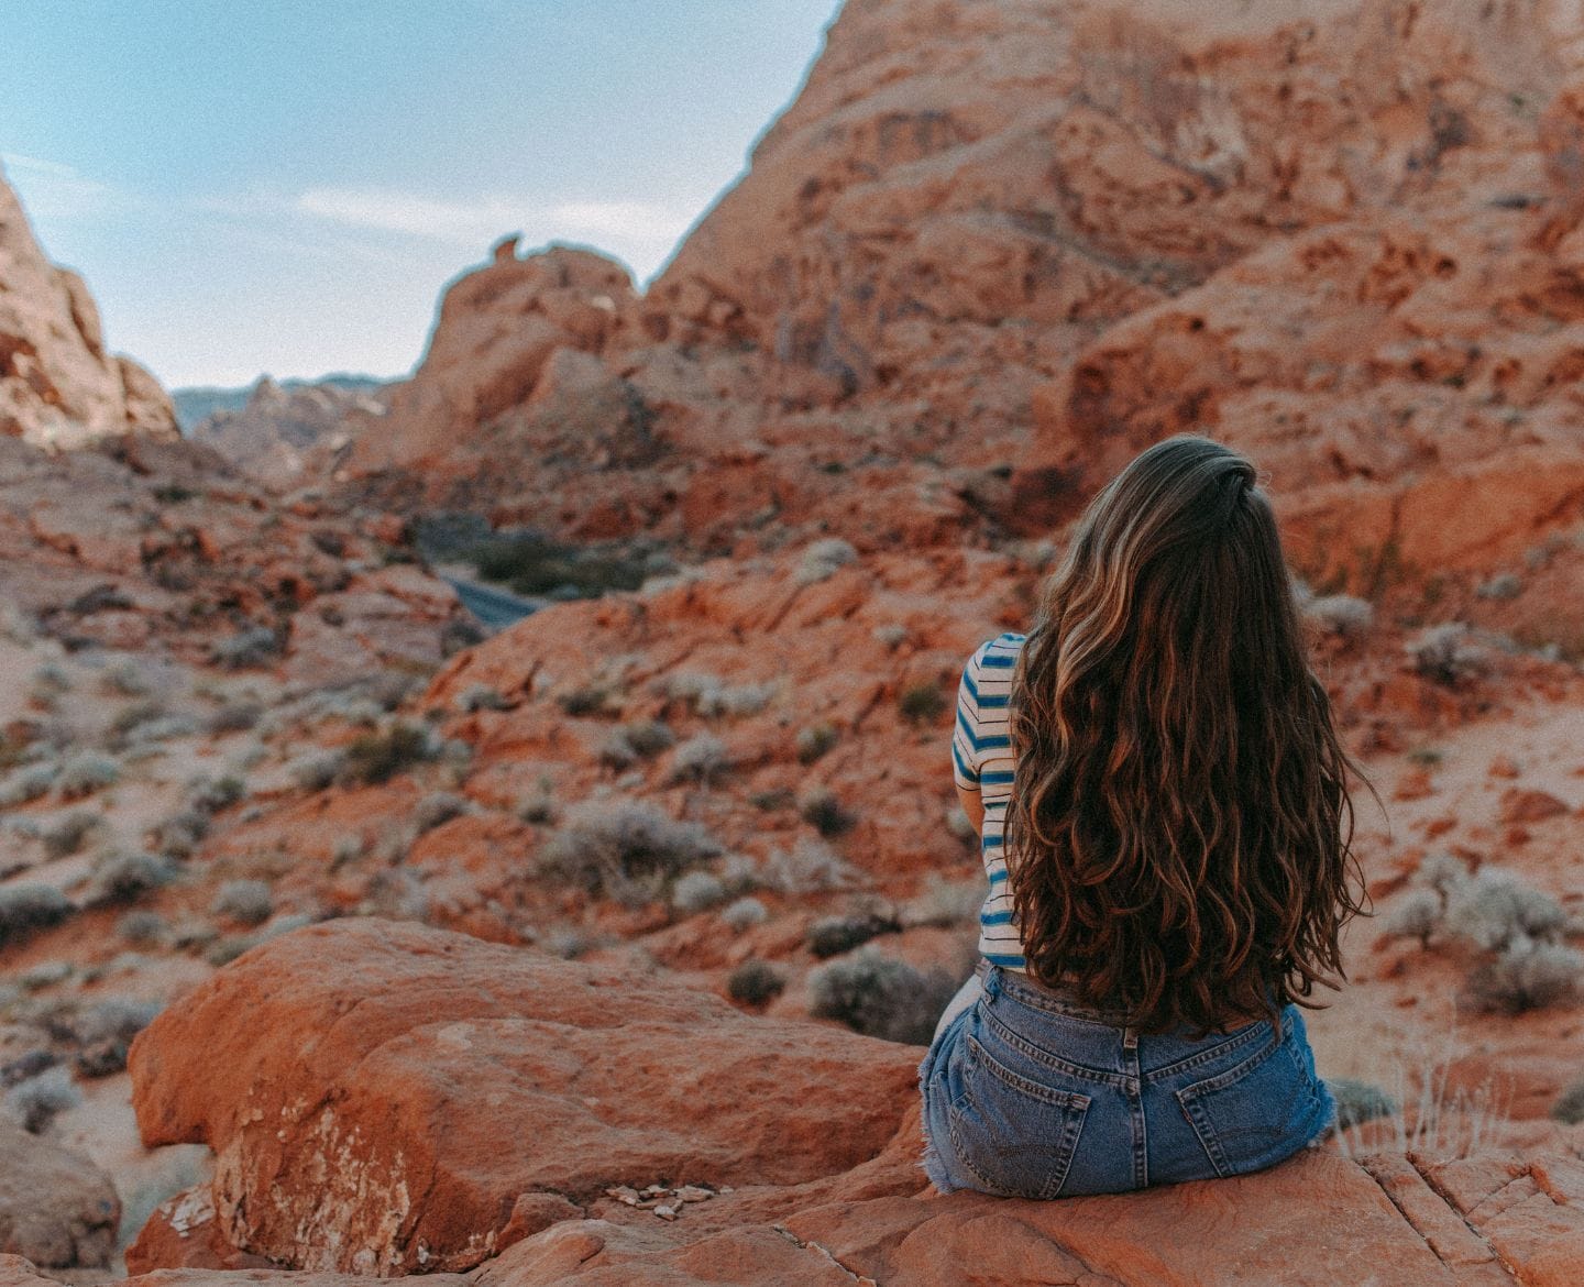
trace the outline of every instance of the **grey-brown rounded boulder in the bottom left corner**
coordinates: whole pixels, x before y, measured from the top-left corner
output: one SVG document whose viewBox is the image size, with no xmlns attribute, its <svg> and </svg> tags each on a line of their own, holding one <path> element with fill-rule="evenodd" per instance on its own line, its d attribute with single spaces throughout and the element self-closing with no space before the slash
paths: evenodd
<svg viewBox="0 0 1584 1287">
<path fill-rule="evenodd" d="M 0 1117 L 0 1274 L 6 1255 L 51 1270 L 109 1265 L 120 1200 L 98 1167 Z"/>
</svg>

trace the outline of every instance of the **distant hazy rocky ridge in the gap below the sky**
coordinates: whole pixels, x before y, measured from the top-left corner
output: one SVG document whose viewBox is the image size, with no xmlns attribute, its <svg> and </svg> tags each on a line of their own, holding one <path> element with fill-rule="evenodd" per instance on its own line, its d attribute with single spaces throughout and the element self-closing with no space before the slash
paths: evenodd
<svg viewBox="0 0 1584 1287">
<path fill-rule="evenodd" d="M 385 414 L 385 388 L 344 387 L 336 380 L 276 384 L 261 377 L 236 411 L 217 411 L 192 430 L 250 479 L 277 491 L 295 487 L 314 463 L 348 442 L 352 417 Z"/>
</svg>

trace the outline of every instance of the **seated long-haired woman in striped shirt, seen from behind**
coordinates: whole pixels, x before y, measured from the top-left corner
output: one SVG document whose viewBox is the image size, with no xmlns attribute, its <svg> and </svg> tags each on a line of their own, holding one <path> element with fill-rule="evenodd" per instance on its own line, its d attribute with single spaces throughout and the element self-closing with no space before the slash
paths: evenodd
<svg viewBox="0 0 1584 1287">
<path fill-rule="evenodd" d="M 935 1186 L 1118 1192 L 1321 1136 L 1294 1002 L 1343 978 L 1356 766 L 1253 464 L 1180 436 L 1114 479 L 1033 631 L 969 658 L 952 756 L 990 896 L 919 1068 Z"/>
</svg>

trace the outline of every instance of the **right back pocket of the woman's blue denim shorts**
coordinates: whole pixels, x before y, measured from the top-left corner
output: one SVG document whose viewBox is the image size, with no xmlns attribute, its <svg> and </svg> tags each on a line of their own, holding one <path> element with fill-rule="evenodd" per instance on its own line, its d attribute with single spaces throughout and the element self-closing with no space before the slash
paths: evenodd
<svg viewBox="0 0 1584 1287">
<path fill-rule="evenodd" d="M 1258 1171 L 1297 1152 L 1324 1125 L 1326 1102 L 1291 1032 L 1234 1067 L 1177 1092 L 1217 1174 Z M 1305 1043 L 1307 1044 L 1307 1043 Z"/>
</svg>

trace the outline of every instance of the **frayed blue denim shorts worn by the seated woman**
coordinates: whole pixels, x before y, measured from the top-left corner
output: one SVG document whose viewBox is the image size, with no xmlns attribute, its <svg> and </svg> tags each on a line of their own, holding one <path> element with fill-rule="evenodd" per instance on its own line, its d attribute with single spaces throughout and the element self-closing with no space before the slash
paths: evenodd
<svg viewBox="0 0 1584 1287">
<path fill-rule="evenodd" d="M 942 1193 L 1057 1198 L 1258 1171 L 1318 1140 L 1335 1103 L 1297 1006 L 1202 1038 L 1139 1033 L 1026 975 L 936 1033 L 919 1084 L 923 1168 Z"/>
</svg>

